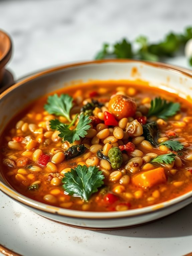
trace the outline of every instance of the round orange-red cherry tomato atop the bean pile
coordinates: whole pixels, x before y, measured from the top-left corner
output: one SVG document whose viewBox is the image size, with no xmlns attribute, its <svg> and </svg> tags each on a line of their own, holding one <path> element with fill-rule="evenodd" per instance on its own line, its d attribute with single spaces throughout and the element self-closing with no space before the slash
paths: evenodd
<svg viewBox="0 0 192 256">
<path fill-rule="evenodd" d="M 136 109 L 135 101 L 124 95 L 116 95 L 109 101 L 109 111 L 114 114 L 118 120 L 124 117 L 133 117 Z"/>
</svg>

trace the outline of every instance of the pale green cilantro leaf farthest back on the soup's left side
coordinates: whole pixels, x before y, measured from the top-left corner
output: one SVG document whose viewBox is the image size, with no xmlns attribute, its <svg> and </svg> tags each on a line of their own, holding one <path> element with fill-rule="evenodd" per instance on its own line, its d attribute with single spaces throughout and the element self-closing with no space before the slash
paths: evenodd
<svg viewBox="0 0 192 256">
<path fill-rule="evenodd" d="M 57 94 L 54 94 L 48 97 L 48 104 L 44 106 L 44 109 L 49 114 L 64 116 L 69 122 L 71 122 L 70 110 L 73 106 L 72 101 L 73 98 L 68 94 L 61 94 L 60 97 Z"/>
</svg>

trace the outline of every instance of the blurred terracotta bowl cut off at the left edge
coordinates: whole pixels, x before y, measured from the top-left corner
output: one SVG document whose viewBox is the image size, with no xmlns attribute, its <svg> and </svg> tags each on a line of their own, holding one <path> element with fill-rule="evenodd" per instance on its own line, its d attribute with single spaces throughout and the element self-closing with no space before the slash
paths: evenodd
<svg viewBox="0 0 192 256">
<path fill-rule="evenodd" d="M 9 61 L 12 52 L 12 43 L 7 33 L 0 30 L 0 84 L 5 73 L 5 65 Z"/>
</svg>

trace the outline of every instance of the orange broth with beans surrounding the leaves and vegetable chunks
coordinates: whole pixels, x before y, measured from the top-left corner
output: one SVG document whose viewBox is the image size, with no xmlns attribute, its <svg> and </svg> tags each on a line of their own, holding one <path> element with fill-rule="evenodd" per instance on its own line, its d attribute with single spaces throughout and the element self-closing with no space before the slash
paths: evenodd
<svg viewBox="0 0 192 256">
<path fill-rule="evenodd" d="M 75 87 L 65 87 L 55 93 L 58 95 L 68 94 L 73 97 L 74 106 L 71 110 L 72 118 L 74 118 L 76 113 L 80 112 L 80 108 L 83 105 L 90 102 L 91 98 L 104 104 L 103 109 L 97 108 L 93 111 L 93 116 L 97 117 L 97 120 L 98 116 L 101 118 L 99 118 L 97 124 L 91 123 L 91 129 L 95 130 L 95 132 L 93 132 L 93 135 L 95 135 L 93 137 L 90 137 L 90 135 L 88 138 L 85 135 L 80 141 L 72 143 L 73 145 L 84 144 L 87 149 L 83 154 L 69 160 L 64 159 L 59 163 L 51 162 L 55 153 L 54 148 L 57 148 L 57 152 L 62 152 L 63 154 L 63 152 L 67 150 L 67 147 L 72 146 L 72 144 L 62 141 L 62 139 L 57 136 L 58 133 L 50 129 L 49 120 L 55 118 L 59 118 L 59 120 L 63 122 L 66 122 L 66 120 L 64 120 L 62 116 L 57 117 L 44 110 L 47 95 L 33 102 L 10 121 L 1 136 L 1 172 L 16 191 L 43 203 L 82 211 L 122 211 L 142 208 L 173 199 L 191 191 L 192 105 L 189 102 L 181 99 L 178 95 L 143 86 L 139 83 L 135 85 L 131 82 L 127 82 L 127 84 L 125 82 L 92 82 L 80 84 Z M 104 124 L 102 113 L 106 111 L 106 109 L 108 110 L 110 97 L 116 93 L 133 98 L 137 104 L 136 114 L 133 117 L 125 117 L 127 118 L 127 126 L 138 117 L 146 116 L 150 108 L 150 102 L 155 97 L 161 97 L 171 102 L 180 103 L 181 110 L 167 120 L 161 121 L 162 119 L 159 120 L 160 118 L 157 117 L 148 118 L 148 121 L 158 123 L 159 141 L 161 138 L 162 141 L 173 139 L 183 144 L 184 148 L 178 151 L 179 154 L 165 147 L 152 145 L 152 148 L 146 148 L 145 143 L 143 143 L 144 146 L 142 144 L 142 141 L 146 140 L 140 138 L 143 137 L 142 134 L 135 137 L 129 136 L 129 134 L 127 136 L 126 128 L 119 127 L 123 130 L 124 137 L 122 139 L 115 139 L 115 142 L 112 141 L 109 143 L 110 147 L 119 147 L 128 142 L 134 142 L 133 144 L 135 145 L 136 151 L 122 151 L 123 163 L 121 167 L 117 169 L 110 168 L 110 165 L 105 162 L 107 160 L 101 162 L 102 160 L 97 157 L 97 152 L 91 152 L 89 147 L 92 145 L 101 145 L 99 147 L 103 149 L 105 146 L 104 139 L 98 139 L 97 137 L 99 132 L 98 127 L 100 127 L 100 124 Z M 92 96 L 90 97 L 90 95 Z M 101 114 L 98 115 L 98 113 Z M 19 121 L 20 123 L 18 123 Z M 120 124 L 120 120 L 118 120 L 118 122 Z M 31 124 L 34 126 L 31 126 Z M 32 129 L 31 127 L 35 128 Z M 105 129 L 110 129 L 108 136 L 113 136 L 115 126 L 106 127 Z M 170 136 L 170 134 L 174 136 Z M 138 141 L 142 141 L 138 143 L 137 139 L 135 139 L 136 137 L 139 137 Z M 29 140 L 35 141 L 34 147 L 27 149 L 27 142 Z M 16 142 L 16 144 L 10 142 Z M 15 148 L 9 146 L 13 144 Z M 15 145 L 18 145 L 18 148 L 16 148 Z M 97 148 L 97 146 L 95 148 Z M 49 162 L 52 164 L 48 164 L 44 167 L 40 166 L 38 160 L 34 158 L 34 152 L 37 149 L 40 149 L 43 154 L 48 155 Z M 171 164 L 150 163 L 151 156 L 147 155 L 149 153 L 162 155 L 170 152 L 177 155 L 177 160 L 173 161 Z M 138 157 L 139 159 L 137 159 L 137 164 L 133 162 L 133 164 L 137 166 L 136 168 L 134 167 L 135 169 L 132 169 L 132 167 L 127 165 L 129 161 L 132 162 L 134 157 Z M 65 168 L 74 168 L 79 163 L 81 165 L 84 163 L 86 166 L 89 166 L 90 160 L 87 160 L 88 158 L 92 158 L 95 161 L 96 165 L 105 176 L 105 179 L 104 185 L 98 188 L 98 192 L 93 193 L 88 201 L 84 201 L 79 196 L 67 195 L 62 186 L 62 178 L 65 175 L 65 171 L 63 171 Z M 133 159 L 133 161 L 135 160 Z M 107 166 L 106 169 L 103 167 L 102 163 L 104 163 L 104 166 Z M 33 167 L 34 170 L 30 170 L 29 166 L 36 166 L 38 170 L 35 170 L 35 167 Z M 133 182 L 133 177 L 139 173 L 159 167 L 163 169 L 166 180 L 157 182 L 154 185 L 149 185 L 148 187 L 143 187 L 141 184 L 136 185 Z M 68 171 L 70 171 L 70 169 L 68 169 Z M 115 171 L 117 171 L 115 174 L 119 176 L 117 175 L 117 179 L 114 181 L 110 177 L 113 176 L 112 173 Z M 29 189 L 31 184 L 38 184 L 38 189 Z"/>
</svg>

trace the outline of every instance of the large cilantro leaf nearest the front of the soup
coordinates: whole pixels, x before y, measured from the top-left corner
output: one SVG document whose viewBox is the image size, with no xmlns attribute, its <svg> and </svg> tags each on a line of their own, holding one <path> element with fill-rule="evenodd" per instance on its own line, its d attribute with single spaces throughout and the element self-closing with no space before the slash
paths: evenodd
<svg viewBox="0 0 192 256">
<path fill-rule="evenodd" d="M 99 168 L 94 166 L 78 165 L 70 172 L 65 173 L 62 179 L 63 188 L 70 196 L 81 197 L 82 200 L 88 201 L 90 196 L 98 191 L 104 182 L 104 175 Z"/>
</svg>

